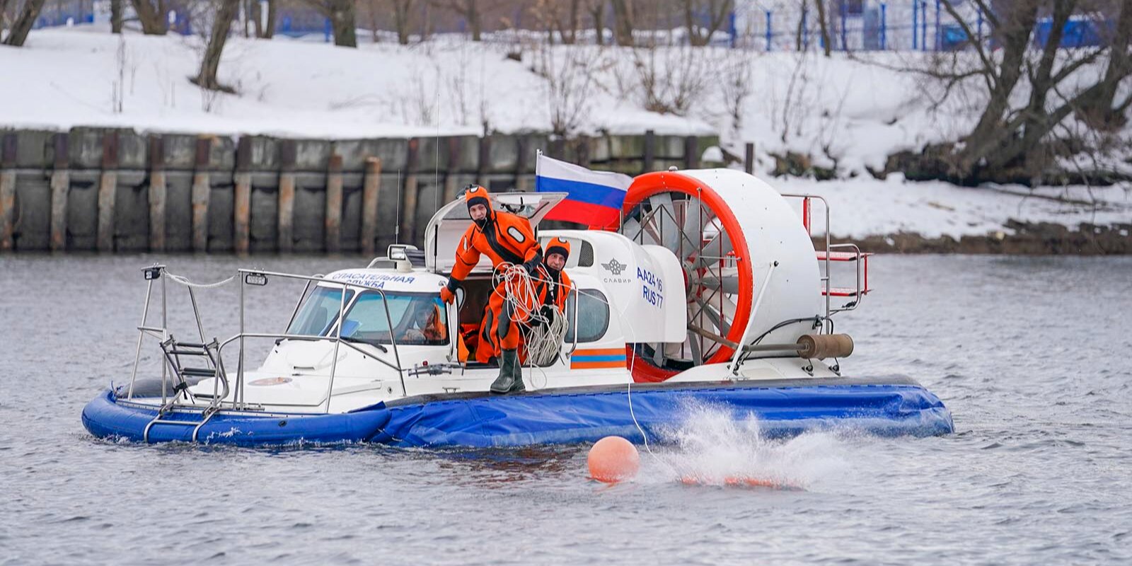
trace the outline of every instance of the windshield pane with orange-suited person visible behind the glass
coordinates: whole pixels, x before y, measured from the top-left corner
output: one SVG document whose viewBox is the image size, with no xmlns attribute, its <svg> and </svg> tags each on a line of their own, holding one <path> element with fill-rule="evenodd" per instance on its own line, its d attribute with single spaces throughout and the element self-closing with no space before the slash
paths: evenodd
<svg viewBox="0 0 1132 566">
<path fill-rule="evenodd" d="M 389 312 L 379 293 L 366 291 L 346 311 L 342 336 L 358 342 L 388 344 L 389 321 L 398 345 L 448 343 L 447 309 L 436 293 L 385 293 Z"/>
</svg>

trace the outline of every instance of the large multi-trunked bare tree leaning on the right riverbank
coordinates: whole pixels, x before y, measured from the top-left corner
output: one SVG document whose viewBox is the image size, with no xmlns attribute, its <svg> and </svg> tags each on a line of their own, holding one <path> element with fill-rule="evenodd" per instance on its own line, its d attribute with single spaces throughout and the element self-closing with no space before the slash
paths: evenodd
<svg viewBox="0 0 1132 566">
<path fill-rule="evenodd" d="M 1078 143 L 1080 137 L 1057 135 L 1066 118 L 1075 114 L 1094 127 L 1123 123 L 1132 95 L 1117 100 L 1117 94 L 1132 77 L 1132 2 L 1116 3 L 1120 11 L 1107 45 L 1065 50 L 1065 25 L 1082 8 L 1079 0 L 1017 0 L 1012 9 L 997 11 L 986 0 L 972 1 L 984 10 L 998 49 L 990 51 L 978 41 L 953 0 L 943 0 L 974 53 L 941 54 L 926 74 L 945 93 L 974 89 L 981 111 L 961 144 L 925 151 L 936 162 L 921 168 L 963 182 L 1040 181 L 1057 174 L 1060 158 L 1091 151 Z M 1038 18 L 1047 15 L 1048 37 L 1035 49 Z"/>
</svg>

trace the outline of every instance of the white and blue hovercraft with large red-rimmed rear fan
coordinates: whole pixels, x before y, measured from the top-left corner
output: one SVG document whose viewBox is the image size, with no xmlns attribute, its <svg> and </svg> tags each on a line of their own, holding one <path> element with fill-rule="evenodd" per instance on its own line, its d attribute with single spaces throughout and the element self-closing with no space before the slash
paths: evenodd
<svg viewBox="0 0 1132 566">
<path fill-rule="evenodd" d="M 492 206 L 538 228 L 564 197 L 498 194 Z M 144 443 L 491 447 L 663 440 L 707 406 L 754 417 L 771 436 L 951 432 L 947 409 L 915 380 L 841 375 L 852 340 L 833 333 L 832 317 L 869 292 L 868 255 L 827 235 L 815 250 L 818 199 L 732 170 L 664 171 L 633 180 L 617 231 L 538 231 L 577 250 L 565 268 L 574 290 L 550 355 L 529 355 L 526 392 L 506 395 L 489 392 L 498 367 L 468 355 L 491 266 L 473 271 L 455 305 L 439 299 L 470 222 L 462 200 L 432 216 L 423 248 L 391 246 L 366 267 L 239 269 L 240 327 L 225 340 L 205 338 L 191 288 L 194 337 L 153 323 L 166 319 L 158 292 L 164 309 L 166 283 L 186 281 L 146 267 L 134 375 L 91 401 L 83 423 L 96 437 Z M 831 261 L 851 263 L 855 286 L 832 285 Z M 306 285 L 285 329 L 246 329 L 246 295 L 285 281 Z M 420 312 L 435 312 L 440 332 L 411 332 Z M 264 338 L 274 345 L 247 367 L 249 344 Z M 147 341 L 161 349 L 160 376 L 138 376 Z"/>
</svg>

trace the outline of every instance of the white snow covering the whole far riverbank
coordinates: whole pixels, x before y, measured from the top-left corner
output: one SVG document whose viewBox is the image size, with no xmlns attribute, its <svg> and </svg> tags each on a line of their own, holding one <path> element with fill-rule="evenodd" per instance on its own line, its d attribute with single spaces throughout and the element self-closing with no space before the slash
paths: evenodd
<svg viewBox="0 0 1132 566">
<path fill-rule="evenodd" d="M 720 135 L 722 149 L 756 145 L 757 171 L 770 154 L 811 155 L 848 180 L 770 179 L 784 192 L 813 192 L 832 205 L 835 235 L 898 231 L 936 237 L 1003 230 L 1009 218 L 1132 222 L 1126 187 L 1043 188 L 1037 195 L 1099 199 L 1072 205 L 1024 187 L 960 188 L 943 182 L 875 180 L 887 155 L 957 139 L 978 117 L 978 96 L 943 104 L 899 68 L 931 53 L 885 52 L 826 59 L 818 53 L 756 53 L 705 48 L 657 52 L 593 45 L 423 44 L 246 40 L 233 36 L 221 82 L 238 94 L 206 93 L 196 74 L 199 37 L 115 36 L 104 25 L 36 29 L 22 49 L 0 48 L 0 127 L 128 127 L 170 132 L 365 138 L 550 131 L 566 110 L 571 134 Z M 522 61 L 507 57 L 522 51 Z M 119 55 L 121 53 L 121 55 Z M 859 58 L 867 58 L 863 60 Z M 661 97 L 691 88 L 683 115 L 644 110 L 642 63 L 654 66 Z M 537 71 L 551 66 L 557 86 Z M 745 85 L 736 88 L 735 77 Z M 728 79 L 731 79 L 730 82 Z M 121 87 L 119 88 L 119 85 Z M 117 96 L 115 93 L 121 95 Z M 1024 93 L 1020 94 L 1024 95 Z M 736 105 L 736 101 L 738 105 Z M 120 103 L 120 111 L 117 106 Z M 738 109 L 739 120 L 735 119 Z M 719 148 L 704 160 L 722 157 Z"/>
</svg>

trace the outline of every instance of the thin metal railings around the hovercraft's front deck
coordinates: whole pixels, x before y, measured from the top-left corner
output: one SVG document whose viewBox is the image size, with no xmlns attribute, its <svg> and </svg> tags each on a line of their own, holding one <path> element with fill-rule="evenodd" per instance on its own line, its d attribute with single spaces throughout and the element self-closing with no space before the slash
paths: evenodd
<svg viewBox="0 0 1132 566">
<path fill-rule="evenodd" d="M 157 338 L 158 341 L 164 342 L 164 341 L 168 341 L 170 338 L 170 336 L 171 336 L 171 334 L 169 332 L 168 289 L 166 289 L 166 285 L 165 285 L 165 280 L 169 278 L 166 266 L 156 264 L 156 265 L 153 265 L 151 267 L 144 268 L 143 272 L 145 273 L 145 277 L 146 277 L 146 281 L 147 281 L 146 299 L 145 299 L 145 306 L 143 307 L 143 310 L 142 310 L 142 324 L 137 326 L 137 329 L 138 329 L 138 342 L 137 342 L 137 350 L 136 350 L 135 359 L 134 359 L 134 368 L 132 368 L 132 371 L 130 374 L 130 385 L 129 385 L 129 387 L 127 389 L 127 395 L 126 395 L 126 398 L 128 401 L 134 398 L 134 385 L 135 385 L 135 383 L 137 380 L 138 365 L 140 363 L 140 358 L 142 358 L 142 342 L 143 342 L 144 337 L 145 336 L 151 336 L 151 337 Z M 223 365 L 223 351 L 224 351 L 224 348 L 228 346 L 229 344 L 232 344 L 232 343 L 239 343 L 239 353 L 238 353 L 239 361 L 238 361 L 238 365 L 237 365 L 237 375 L 235 375 L 235 380 L 234 380 L 235 383 L 234 383 L 234 387 L 230 387 L 231 384 L 228 383 L 226 376 L 223 372 L 217 371 L 217 377 L 216 378 L 224 380 L 223 386 L 224 386 L 225 395 L 217 395 L 216 394 L 217 391 L 218 391 L 217 386 L 220 384 L 218 383 L 215 384 L 216 386 L 214 386 L 214 395 L 212 396 L 213 398 L 212 398 L 212 402 L 209 403 L 209 408 L 213 408 L 213 409 L 225 409 L 226 408 L 226 409 L 231 409 L 231 410 L 248 410 L 248 409 L 254 408 L 254 404 L 247 403 L 247 398 L 245 397 L 245 366 L 246 366 L 245 365 L 245 351 L 246 351 L 245 350 L 245 340 L 246 338 L 277 338 L 277 340 L 305 340 L 305 341 L 334 342 L 334 353 L 333 353 L 333 358 L 332 358 L 332 361 L 331 361 L 331 372 L 329 372 L 329 379 L 328 379 L 327 387 L 326 387 L 326 394 L 324 396 L 319 397 L 319 400 L 318 400 L 317 403 L 301 403 L 301 404 L 280 404 L 280 403 L 273 403 L 273 405 L 280 405 L 280 406 L 306 406 L 306 408 L 310 408 L 310 406 L 320 406 L 320 405 L 325 404 L 326 405 L 326 410 L 325 411 L 328 413 L 329 410 L 331 410 L 331 401 L 333 398 L 333 393 L 334 393 L 334 378 L 335 378 L 335 375 L 337 372 L 338 350 L 343 345 L 345 345 L 346 348 L 353 349 L 354 351 L 357 351 L 357 352 L 359 352 L 359 353 L 361 353 L 363 355 L 367 355 L 367 357 L 369 357 L 369 358 L 378 361 L 379 363 L 381 363 L 384 366 L 387 366 L 389 369 L 393 369 L 394 371 L 396 371 L 397 372 L 397 377 L 398 377 L 398 379 L 401 381 L 402 394 L 408 395 L 408 388 L 405 386 L 405 376 L 404 376 L 405 369 L 401 367 L 401 354 L 400 354 L 400 351 L 397 349 L 397 341 L 396 341 L 396 336 L 395 336 L 396 333 L 393 332 L 393 319 L 392 319 L 392 315 L 389 314 L 389 302 L 388 302 L 388 298 L 386 297 L 384 290 L 375 288 L 375 286 L 370 286 L 370 285 L 360 284 L 360 283 L 350 283 L 350 282 L 345 282 L 345 281 L 329 280 L 329 278 L 326 278 L 326 277 L 324 277 L 321 275 L 312 275 L 312 276 L 309 276 L 309 275 L 297 275 L 297 274 L 290 274 L 290 273 L 266 272 L 266 271 L 261 271 L 261 269 L 237 269 L 237 273 L 238 273 L 239 278 L 240 278 L 240 282 L 239 282 L 239 285 L 240 285 L 240 292 L 239 292 L 239 302 L 240 302 L 240 309 L 239 309 L 239 332 L 237 334 L 232 335 L 231 337 L 224 340 L 223 342 L 220 342 L 218 346 L 217 346 L 217 350 L 216 350 L 216 352 L 217 352 L 217 365 L 222 367 L 222 365 Z M 306 281 L 307 282 L 306 288 L 303 288 L 302 295 L 299 298 L 299 301 L 295 303 L 295 307 L 294 307 L 294 309 L 291 312 L 291 318 L 288 320 L 288 327 L 290 327 L 291 323 L 293 323 L 293 320 L 294 320 L 294 317 L 298 315 L 299 309 L 300 309 L 300 307 L 302 305 L 302 300 L 307 297 L 307 292 L 310 290 L 311 284 L 328 283 L 328 284 L 332 284 L 332 285 L 335 285 L 335 286 L 341 286 L 342 294 L 341 294 L 341 298 L 338 300 L 338 315 L 337 315 L 337 319 L 336 319 L 336 324 L 335 324 L 336 329 L 335 329 L 334 335 L 323 336 L 323 335 L 308 335 L 308 334 L 290 334 L 290 333 L 285 333 L 285 332 L 284 333 L 256 333 L 256 332 L 248 332 L 247 328 L 246 328 L 246 326 L 245 326 L 245 324 L 246 324 L 246 320 L 245 320 L 245 286 L 249 284 L 248 283 L 249 277 L 264 277 L 264 283 L 263 284 L 266 284 L 266 277 L 283 277 L 283 278 L 291 278 L 291 280 L 299 280 L 299 281 Z M 154 281 L 157 281 L 157 280 L 161 281 L 161 326 L 160 327 L 158 326 L 147 325 L 147 320 L 148 320 L 148 316 L 149 316 L 149 306 L 153 302 Z M 226 282 L 224 282 L 224 283 L 226 283 Z M 358 345 L 355 345 L 355 344 L 353 344 L 353 343 L 351 343 L 349 341 L 342 340 L 342 323 L 343 323 L 344 317 L 345 317 L 346 303 L 348 303 L 348 301 L 346 301 L 346 291 L 351 290 L 351 289 L 357 289 L 359 291 L 371 291 L 371 292 L 375 292 L 375 293 L 377 293 L 378 295 L 381 297 L 381 303 L 383 303 L 383 306 L 385 308 L 386 324 L 387 324 L 387 326 L 389 328 L 389 346 L 392 348 L 392 351 L 393 351 L 393 358 L 394 358 L 394 362 L 393 363 L 391 363 L 389 361 L 383 359 L 381 357 L 374 355 L 372 352 L 367 352 L 367 351 L 358 348 Z M 358 293 L 358 295 L 360 295 L 360 294 L 361 293 Z M 204 337 L 204 325 L 203 325 L 201 319 L 200 319 L 200 310 L 199 310 L 199 306 L 197 305 L 196 295 L 195 295 L 195 293 L 192 291 L 192 286 L 189 286 L 189 298 L 190 298 L 190 303 L 192 306 L 192 314 L 194 314 L 194 318 L 196 320 L 197 331 L 198 331 L 198 333 L 200 335 L 200 342 L 205 343 L 206 340 Z M 355 299 L 351 299 L 351 301 L 353 301 L 353 300 L 355 300 Z M 380 346 L 379 349 L 384 350 L 384 346 Z M 163 362 L 162 363 L 161 372 L 162 372 L 162 375 L 161 375 L 162 406 L 163 408 L 165 408 L 165 406 L 170 406 L 171 408 L 172 405 L 177 404 L 177 398 L 174 396 L 174 398 L 170 402 L 169 397 L 168 397 L 168 394 L 166 394 L 168 387 L 170 385 L 170 368 L 169 368 L 168 362 Z M 228 396 L 228 392 L 231 392 L 231 394 L 232 394 L 231 401 L 225 401 L 224 400 L 224 397 Z M 207 396 L 207 395 L 200 395 L 200 396 Z M 194 401 L 195 401 L 195 398 L 194 398 Z M 185 406 L 186 409 L 203 409 L 203 408 L 200 408 L 199 405 L 196 405 L 196 404 L 179 405 L 179 406 Z M 207 409 L 207 408 L 205 408 L 205 409 Z"/>
</svg>

